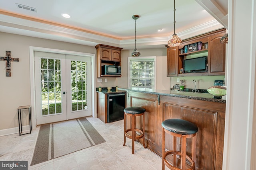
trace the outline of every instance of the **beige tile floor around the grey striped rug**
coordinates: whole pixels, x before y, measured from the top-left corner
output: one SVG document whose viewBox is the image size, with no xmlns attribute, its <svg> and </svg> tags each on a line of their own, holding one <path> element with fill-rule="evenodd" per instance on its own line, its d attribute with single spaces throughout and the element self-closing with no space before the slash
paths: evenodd
<svg viewBox="0 0 256 170">
<path fill-rule="evenodd" d="M 126 139 L 123 146 L 123 123 L 115 121 L 104 124 L 98 118 L 88 117 L 90 123 L 106 140 L 106 143 L 89 147 L 29 166 L 29 170 L 161 170 L 159 156 L 135 142 L 132 154 L 131 140 Z M 0 160 L 27 160 L 31 162 L 39 127 L 31 134 L 19 136 L 18 133 L 0 137 Z M 166 168 L 168 169 L 168 168 Z"/>
</svg>

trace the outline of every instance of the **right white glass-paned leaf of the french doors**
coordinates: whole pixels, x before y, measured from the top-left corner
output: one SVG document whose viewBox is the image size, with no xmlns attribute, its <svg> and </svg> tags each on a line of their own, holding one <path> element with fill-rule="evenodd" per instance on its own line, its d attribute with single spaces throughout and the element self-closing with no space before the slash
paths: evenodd
<svg viewBox="0 0 256 170">
<path fill-rule="evenodd" d="M 92 115 L 90 57 L 66 55 L 67 117 Z"/>
</svg>

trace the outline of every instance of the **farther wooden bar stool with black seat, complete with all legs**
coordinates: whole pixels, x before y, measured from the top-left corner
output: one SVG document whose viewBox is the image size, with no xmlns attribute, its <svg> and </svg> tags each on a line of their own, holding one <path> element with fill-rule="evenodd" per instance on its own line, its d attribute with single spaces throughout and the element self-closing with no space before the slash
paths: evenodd
<svg viewBox="0 0 256 170">
<path fill-rule="evenodd" d="M 124 145 L 126 143 L 126 137 L 128 137 L 129 139 L 132 139 L 132 154 L 134 154 L 134 141 L 138 140 L 140 138 L 143 138 L 143 147 L 145 147 L 145 137 L 144 137 L 144 133 L 145 133 L 145 115 L 144 112 L 146 110 L 142 107 L 126 107 L 124 109 Z M 141 129 L 137 129 L 136 128 L 136 116 L 142 116 L 143 115 L 143 124 L 142 124 L 142 130 Z M 132 124 L 132 128 L 127 129 L 126 124 L 127 124 L 127 116 L 131 116 L 131 124 Z M 128 134 L 129 131 L 132 131 L 132 135 Z M 136 136 L 136 132 L 139 132 L 140 135 Z"/>
</svg>

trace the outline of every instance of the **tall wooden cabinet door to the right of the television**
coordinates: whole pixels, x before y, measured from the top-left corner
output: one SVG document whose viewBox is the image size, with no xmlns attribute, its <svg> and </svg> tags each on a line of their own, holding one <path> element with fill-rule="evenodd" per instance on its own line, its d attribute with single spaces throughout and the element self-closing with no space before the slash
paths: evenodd
<svg viewBox="0 0 256 170">
<path fill-rule="evenodd" d="M 209 75 L 225 75 L 226 45 L 220 43 L 220 39 L 224 34 L 220 33 L 208 38 Z"/>
</svg>

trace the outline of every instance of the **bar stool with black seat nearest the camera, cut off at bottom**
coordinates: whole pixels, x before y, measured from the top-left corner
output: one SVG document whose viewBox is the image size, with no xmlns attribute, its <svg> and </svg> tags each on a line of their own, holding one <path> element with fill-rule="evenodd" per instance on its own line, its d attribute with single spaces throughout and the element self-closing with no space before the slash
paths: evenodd
<svg viewBox="0 0 256 170">
<path fill-rule="evenodd" d="M 171 170 L 194 170 L 196 165 L 196 132 L 198 127 L 189 121 L 182 119 L 167 119 L 162 122 L 162 170 L 166 165 Z M 173 150 L 165 152 L 165 133 L 173 136 Z M 176 137 L 181 138 L 181 151 L 176 150 Z M 192 157 L 186 154 L 186 139 L 192 138 Z M 173 164 L 166 160 L 166 156 L 173 154 Z M 180 155 L 180 168 L 177 167 L 176 155 Z M 186 159 L 191 167 L 186 169 Z"/>
</svg>

